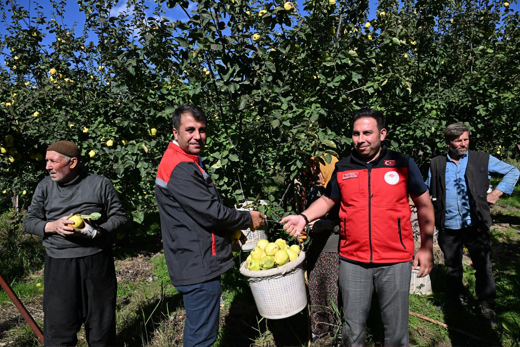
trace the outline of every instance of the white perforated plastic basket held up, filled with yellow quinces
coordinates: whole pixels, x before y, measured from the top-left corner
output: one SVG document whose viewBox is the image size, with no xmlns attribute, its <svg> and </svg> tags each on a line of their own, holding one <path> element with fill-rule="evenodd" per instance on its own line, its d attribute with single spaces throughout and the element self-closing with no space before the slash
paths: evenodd
<svg viewBox="0 0 520 347">
<path fill-rule="evenodd" d="M 305 253 L 283 266 L 268 270 L 248 270 L 247 262 L 240 266 L 253 293 L 258 313 L 268 319 L 294 316 L 307 306 L 307 291 L 303 274 Z"/>
</svg>

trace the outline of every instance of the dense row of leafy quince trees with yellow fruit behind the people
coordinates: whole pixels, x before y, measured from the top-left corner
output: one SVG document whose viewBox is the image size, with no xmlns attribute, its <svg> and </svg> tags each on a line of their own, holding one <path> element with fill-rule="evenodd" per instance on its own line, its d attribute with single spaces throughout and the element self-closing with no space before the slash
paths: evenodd
<svg viewBox="0 0 520 347">
<path fill-rule="evenodd" d="M 228 202 L 242 198 L 238 177 L 256 195 L 312 155 L 347 154 L 359 108 L 383 110 L 389 145 L 423 167 L 447 123 L 471 125 L 472 147 L 497 156 L 520 135 L 520 16 L 508 3 L 382 0 L 373 20 L 365 0 L 201 0 L 192 11 L 188 0 L 128 0 L 115 15 L 117 1 L 79 4 L 83 28 L 64 24 L 64 1 L 49 14 L 0 3 L 4 197 L 29 201 L 46 147 L 68 139 L 142 220 L 172 112 L 187 103 L 209 118 L 203 160 Z"/>
</svg>

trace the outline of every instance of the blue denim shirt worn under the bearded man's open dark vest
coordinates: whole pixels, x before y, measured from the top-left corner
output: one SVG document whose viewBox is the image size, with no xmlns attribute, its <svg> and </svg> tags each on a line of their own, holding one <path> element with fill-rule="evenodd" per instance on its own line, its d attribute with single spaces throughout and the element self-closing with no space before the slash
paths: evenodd
<svg viewBox="0 0 520 347">
<path fill-rule="evenodd" d="M 460 158 L 457 165 L 448 155 L 446 162 L 446 220 L 444 227 L 447 229 L 462 229 L 472 226 L 476 222 L 476 216 L 470 208 L 470 196 L 467 190 L 467 182 L 464 178 L 469 152 Z M 512 165 L 506 164 L 493 156 L 489 156 L 488 177 L 492 174 L 503 175 L 502 181 L 497 185 L 498 190 L 505 194 L 511 194 L 515 187 L 520 171 Z M 430 190 L 431 170 L 428 170 L 426 187 Z"/>
</svg>

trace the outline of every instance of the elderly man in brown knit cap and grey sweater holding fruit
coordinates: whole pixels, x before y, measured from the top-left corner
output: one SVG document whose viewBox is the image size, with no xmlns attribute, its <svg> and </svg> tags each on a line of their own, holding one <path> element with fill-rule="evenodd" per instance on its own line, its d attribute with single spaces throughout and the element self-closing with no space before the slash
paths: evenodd
<svg viewBox="0 0 520 347">
<path fill-rule="evenodd" d="M 43 295 L 46 346 L 71 346 L 85 324 L 89 346 L 113 346 L 117 282 L 109 235 L 127 217 L 109 179 L 81 169 L 80 150 L 70 141 L 47 148 L 49 176 L 34 191 L 23 221 L 46 248 Z M 81 229 L 74 214 L 99 213 Z"/>
</svg>

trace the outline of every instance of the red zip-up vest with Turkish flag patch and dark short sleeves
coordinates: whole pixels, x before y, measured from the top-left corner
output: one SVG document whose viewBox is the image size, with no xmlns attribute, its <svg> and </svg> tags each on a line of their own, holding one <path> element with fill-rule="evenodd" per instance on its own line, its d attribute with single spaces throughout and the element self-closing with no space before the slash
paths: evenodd
<svg viewBox="0 0 520 347">
<path fill-rule="evenodd" d="M 410 156 L 385 147 L 366 163 L 355 155 L 336 163 L 326 196 L 340 198 L 340 258 L 363 263 L 413 259 L 408 193 L 426 191 Z"/>
</svg>

